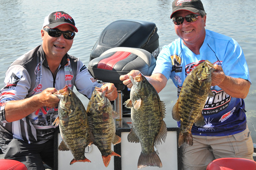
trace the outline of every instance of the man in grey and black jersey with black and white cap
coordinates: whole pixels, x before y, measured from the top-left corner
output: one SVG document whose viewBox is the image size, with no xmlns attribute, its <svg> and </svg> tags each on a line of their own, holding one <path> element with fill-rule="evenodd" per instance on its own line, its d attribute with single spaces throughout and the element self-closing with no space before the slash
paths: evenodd
<svg viewBox="0 0 256 170">
<path fill-rule="evenodd" d="M 86 66 L 67 52 L 75 32 L 74 19 L 63 11 L 50 13 L 41 30 L 42 45 L 19 57 L 8 68 L 0 96 L 0 147 L 5 159 L 24 163 L 29 170 L 53 168 L 53 122 L 59 99 L 53 95 L 67 85 L 87 98 L 95 88 L 108 87 L 106 97 L 115 100 L 112 83 L 99 84 Z M 42 113 L 42 126 L 35 121 Z"/>
</svg>

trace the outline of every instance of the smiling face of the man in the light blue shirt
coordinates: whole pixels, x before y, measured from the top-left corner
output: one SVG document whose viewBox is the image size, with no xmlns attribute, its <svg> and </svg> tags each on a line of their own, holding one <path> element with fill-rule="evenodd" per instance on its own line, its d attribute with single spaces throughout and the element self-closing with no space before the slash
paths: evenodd
<svg viewBox="0 0 256 170">
<path fill-rule="evenodd" d="M 178 17 L 186 17 L 187 15 L 193 15 L 189 11 L 181 10 L 177 11 L 173 15 L 173 19 Z M 196 13 L 195 15 L 199 15 Z M 187 22 L 184 18 L 184 21 L 180 25 L 174 24 L 174 29 L 176 34 L 183 40 L 185 45 L 195 45 L 196 43 L 202 43 L 205 37 L 205 21 L 206 16 L 203 18 L 198 16 L 198 19 L 195 22 Z"/>
</svg>

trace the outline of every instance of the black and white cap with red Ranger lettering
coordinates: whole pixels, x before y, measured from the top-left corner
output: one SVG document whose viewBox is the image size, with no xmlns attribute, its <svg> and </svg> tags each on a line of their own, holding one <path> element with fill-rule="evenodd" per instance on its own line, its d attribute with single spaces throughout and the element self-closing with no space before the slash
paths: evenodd
<svg viewBox="0 0 256 170">
<path fill-rule="evenodd" d="M 43 28 L 45 26 L 49 28 L 56 28 L 63 24 L 69 24 L 73 27 L 75 32 L 78 32 L 77 28 L 75 27 L 74 19 L 69 14 L 63 11 L 52 12 L 48 16 L 46 16 L 44 18 Z"/>
</svg>

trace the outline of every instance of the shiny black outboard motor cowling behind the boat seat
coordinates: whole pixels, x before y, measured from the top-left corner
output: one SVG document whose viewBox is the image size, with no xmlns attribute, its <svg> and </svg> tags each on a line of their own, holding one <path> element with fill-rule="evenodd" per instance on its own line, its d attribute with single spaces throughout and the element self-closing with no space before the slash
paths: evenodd
<svg viewBox="0 0 256 170">
<path fill-rule="evenodd" d="M 159 36 L 156 24 L 140 20 L 116 20 L 110 23 L 100 34 L 91 50 L 90 61 L 114 47 L 141 48 L 155 58 L 159 53 Z"/>
</svg>

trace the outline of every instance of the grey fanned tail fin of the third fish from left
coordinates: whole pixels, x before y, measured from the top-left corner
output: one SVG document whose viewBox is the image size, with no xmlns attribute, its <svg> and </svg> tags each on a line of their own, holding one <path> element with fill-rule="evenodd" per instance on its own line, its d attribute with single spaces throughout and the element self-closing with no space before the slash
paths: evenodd
<svg viewBox="0 0 256 170">
<path fill-rule="evenodd" d="M 141 169 L 147 166 L 159 167 L 159 168 L 162 167 L 162 162 L 155 151 L 150 154 L 146 154 L 142 152 L 140 153 L 140 157 L 138 160 L 138 169 Z"/>
</svg>

